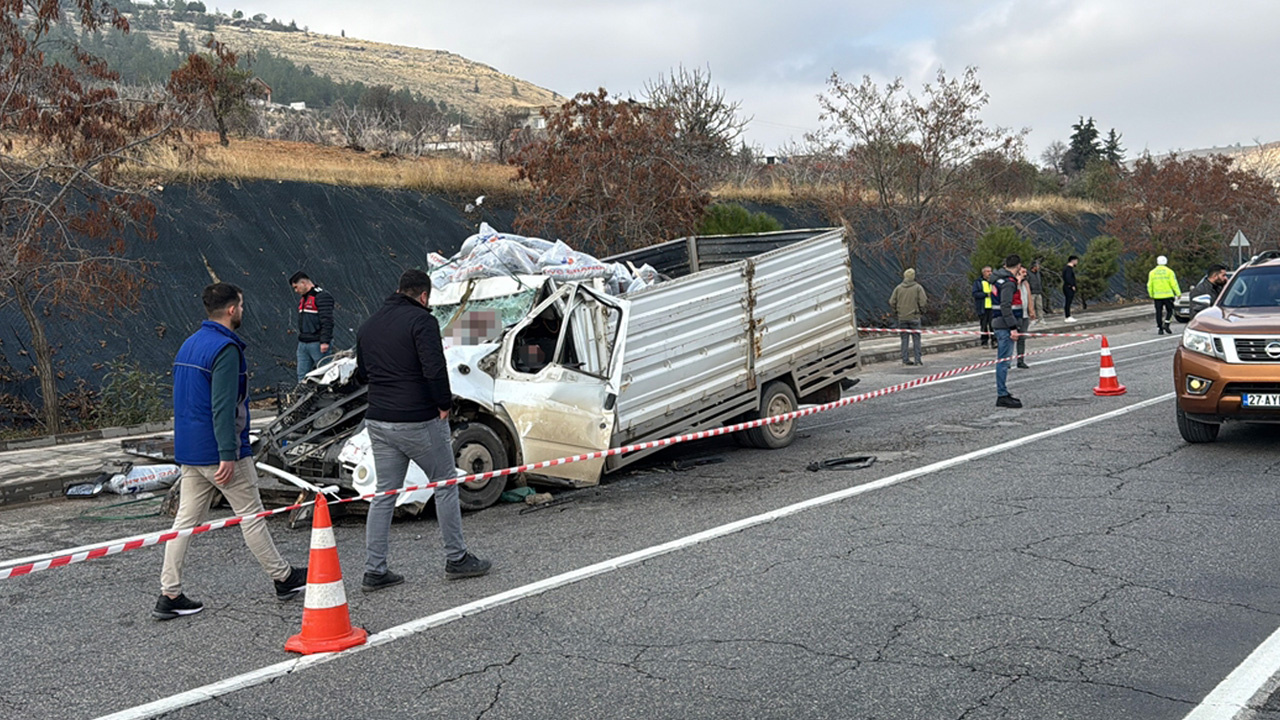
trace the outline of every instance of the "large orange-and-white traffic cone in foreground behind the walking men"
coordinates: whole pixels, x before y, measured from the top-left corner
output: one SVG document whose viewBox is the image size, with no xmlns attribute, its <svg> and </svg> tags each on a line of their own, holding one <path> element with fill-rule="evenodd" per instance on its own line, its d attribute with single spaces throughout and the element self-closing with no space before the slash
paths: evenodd
<svg viewBox="0 0 1280 720">
<path fill-rule="evenodd" d="M 314 655 L 338 652 L 365 644 L 369 633 L 351 626 L 347 592 L 342 585 L 338 543 L 329 523 L 329 506 L 324 495 L 316 495 L 315 518 L 311 523 L 311 561 L 307 566 L 307 594 L 302 609 L 302 632 L 284 643 L 284 650 Z"/>
</svg>

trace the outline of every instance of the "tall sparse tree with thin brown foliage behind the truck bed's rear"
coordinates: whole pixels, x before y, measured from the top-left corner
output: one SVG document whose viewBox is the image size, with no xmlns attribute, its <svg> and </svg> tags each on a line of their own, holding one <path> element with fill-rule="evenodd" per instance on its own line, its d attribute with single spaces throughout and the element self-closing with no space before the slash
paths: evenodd
<svg viewBox="0 0 1280 720">
<path fill-rule="evenodd" d="M 902 78 L 858 85 L 832 73 L 818 96 L 822 129 L 810 140 L 824 146 L 836 192 L 823 196 L 828 211 L 856 237 L 878 228 L 878 245 L 902 266 L 922 254 L 945 256 L 960 249 L 996 217 L 991 182 L 978 158 L 1016 158 L 1027 131 L 988 127 L 979 113 L 988 96 L 975 68 L 957 78 L 938 70 L 915 96 Z M 984 167 L 998 167 L 984 163 Z"/>
</svg>

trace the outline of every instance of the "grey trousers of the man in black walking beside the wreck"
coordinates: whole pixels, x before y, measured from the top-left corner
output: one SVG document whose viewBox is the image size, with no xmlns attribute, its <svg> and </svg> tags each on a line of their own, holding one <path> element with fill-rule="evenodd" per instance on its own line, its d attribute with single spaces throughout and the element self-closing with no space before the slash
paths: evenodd
<svg viewBox="0 0 1280 720">
<path fill-rule="evenodd" d="M 447 480 L 454 475 L 453 442 L 449 421 L 435 419 L 425 423 L 384 423 L 365 420 L 374 448 L 374 470 L 378 473 L 378 491 L 404 486 L 408 461 L 426 473 L 431 480 Z M 390 544 L 392 515 L 397 496 L 374 498 L 369 503 L 365 520 L 365 571 L 380 575 L 387 571 L 387 550 Z M 444 556 L 462 560 L 467 544 L 462 539 L 462 510 L 458 506 L 458 486 L 435 488 L 435 519 L 444 538 Z"/>
</svg>

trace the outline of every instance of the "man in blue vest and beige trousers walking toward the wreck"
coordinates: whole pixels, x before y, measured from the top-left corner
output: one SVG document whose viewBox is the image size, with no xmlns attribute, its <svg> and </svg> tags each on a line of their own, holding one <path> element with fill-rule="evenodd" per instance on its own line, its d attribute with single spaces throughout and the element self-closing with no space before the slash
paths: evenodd
<svg viewBox="0 0 1280 720">
<path fill-rule="evenodd" d="M 216 493 L 236 515 L 262 511 L 248 442 L 248 363 L 244 341 L 236 334 L 244 318 L 244 295 L 233 284 L 214 283 L 205 288 L 204 301 L 209 319 L 182 343 L 173 361 L 173 446 L 182 465 L 175 530 L 204 523 Z M 264 518 L 244 520 L 241 532 L 275 580 L 278 600 L 292 600 L 306 588 L 307 569 L 289 568 L 280 557 Z M 195 615 L 205 607 L 182 592 L 189 542 L 187 536 L 165 544 L 160 598 L 151 611 L 157 620 Z"/>
</svg>

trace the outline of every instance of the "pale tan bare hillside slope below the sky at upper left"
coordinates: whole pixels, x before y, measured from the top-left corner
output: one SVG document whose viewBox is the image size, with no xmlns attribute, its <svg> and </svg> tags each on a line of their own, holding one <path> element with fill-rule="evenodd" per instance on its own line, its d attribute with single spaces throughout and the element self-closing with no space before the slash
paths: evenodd
<svg viewBox="0 0 1280 720">
<path fill-rule="evenodd" d="M 189 22 L 174 20 L 168 24 L 172 27 L 140 32 L 146 33 L 152 45 L 166 51 L 178 49 L 179 32 L 186 31 L 193 40 L 207 35 L 207 31 L 197 29 Z M 407 88 L 424 97 L 443 100 L 467 114 L 489 108 L 540 108 L 564 101 L 564 97 L 550 90 L 445 50 L 229 24 L 219 26 L 215 36 L 237 53 L 265 49 L 335 81 Z"/>
</svg>

